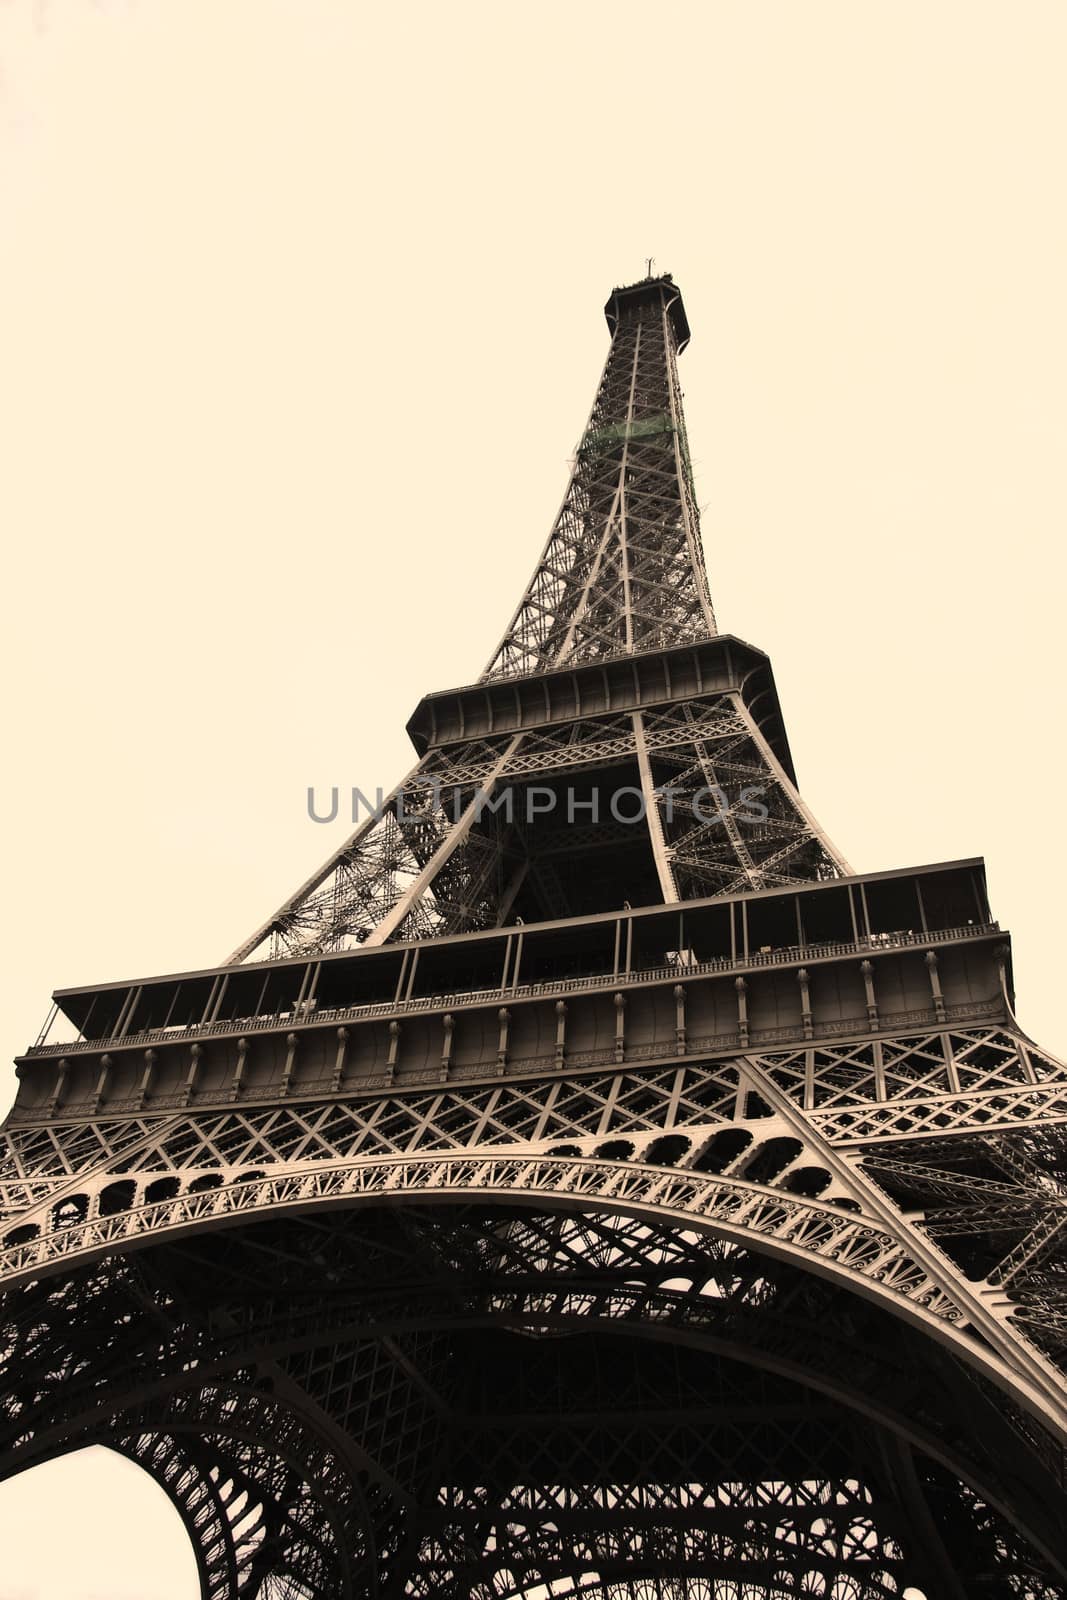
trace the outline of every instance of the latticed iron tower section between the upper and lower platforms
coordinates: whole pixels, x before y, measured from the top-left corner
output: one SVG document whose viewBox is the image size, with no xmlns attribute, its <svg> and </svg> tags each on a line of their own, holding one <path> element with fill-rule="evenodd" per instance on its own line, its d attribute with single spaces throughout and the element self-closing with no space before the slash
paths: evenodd
<svg viewBox="0 0 1067 1600">
<path fill-rule="evenodd" d="M 430 750 L 235 958 L 445 938 L 845 869 L 742 696 L 699 696 Z"/>
</svg>

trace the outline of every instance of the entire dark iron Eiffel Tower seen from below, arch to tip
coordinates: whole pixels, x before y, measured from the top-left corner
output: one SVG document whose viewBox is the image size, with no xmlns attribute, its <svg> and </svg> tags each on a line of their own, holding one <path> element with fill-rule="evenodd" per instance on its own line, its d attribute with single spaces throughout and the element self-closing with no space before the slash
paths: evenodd
<svg viewBox="0 0 1067 1600">
<path fill-rule="evenodd" d="M 981 859 L 854 874 L 717 630 L 669 275 L 416 765 L 216 966 L 56 994 L 2 1470 L 205 1600 L 1067 1595 L 1067 1069 Z M 58 1512 L 61 1517 L 61 1512 Z"/>
</svg>

